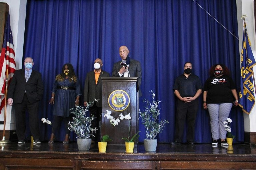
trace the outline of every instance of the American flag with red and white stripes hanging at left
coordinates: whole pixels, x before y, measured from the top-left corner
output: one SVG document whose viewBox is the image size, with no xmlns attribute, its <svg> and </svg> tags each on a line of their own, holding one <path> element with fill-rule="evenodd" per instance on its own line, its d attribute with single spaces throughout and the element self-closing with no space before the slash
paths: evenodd
<svg viewBox="0 0 256 170">
<path fill-rule="evenodd" d="M 1 95 L 1 105 L 0 105 L 0 114 L 4 112 L 5 105 L 5 89 L 6 89 L 6 71 L 8 70 L 8 85 L 11 78 L 16 70 L 15 63 L 15 53 L 13 50 L 13 39 L 12 39 L 12 30 L 10 25 L 10 14 L 8 12 L 6 27 L 4 30 L 4 42 L 3 48 L 0 56 L 0 95 Z"/>
</svg>

